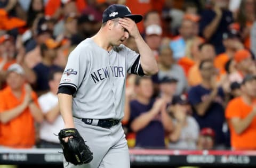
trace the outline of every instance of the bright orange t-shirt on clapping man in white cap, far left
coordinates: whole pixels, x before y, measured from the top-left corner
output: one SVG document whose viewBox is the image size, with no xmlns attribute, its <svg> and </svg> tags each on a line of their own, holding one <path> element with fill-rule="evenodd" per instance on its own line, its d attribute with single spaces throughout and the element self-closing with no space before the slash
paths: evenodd
<svg viewBox="0 0 256 168">
<path fill-rule="evenodd" d="M 17 98 L 13 95 L 9 86 L 0 91 L 0 113 L 11 110 L 22 104 L 25 97 L 25 89 Z M 31 97 L 38 105 L 36 93 Z M 0 145 L 12 148 L 31 148 L 35 145 L 34 118 L 27 107 L 19 116 L 3 124 L 0 122 Z"/>
</svg>

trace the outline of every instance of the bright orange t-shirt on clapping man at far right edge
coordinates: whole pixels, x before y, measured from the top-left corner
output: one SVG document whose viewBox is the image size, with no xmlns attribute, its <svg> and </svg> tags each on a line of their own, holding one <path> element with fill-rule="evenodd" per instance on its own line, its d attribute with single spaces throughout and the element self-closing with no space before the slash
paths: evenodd
<svg viewBox="0 0 256 168">
<path fill-rule="evenodd" d="M 256 103 L 256 99 L 253 101 Z M 240 119 L 244 119 L 248 114 L 251 113 L 253 107 L 252 105 L 247 105 L 244 103 L 242 97 L 237 97 L 231 100 L 226 108 L 226 118 L 229 120 L 232 117 L 239 117 Z M 252 123 L 248 128 L 240 135 L 238 135 L 233 125 L 228 121 L 230 133 L 231 133 L 231 146 L 235 149 L 247 149 L 252 150 L 256 149 L 256 117 L 254 117 Z"/>
</svg>

